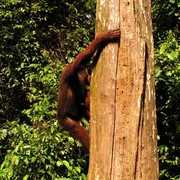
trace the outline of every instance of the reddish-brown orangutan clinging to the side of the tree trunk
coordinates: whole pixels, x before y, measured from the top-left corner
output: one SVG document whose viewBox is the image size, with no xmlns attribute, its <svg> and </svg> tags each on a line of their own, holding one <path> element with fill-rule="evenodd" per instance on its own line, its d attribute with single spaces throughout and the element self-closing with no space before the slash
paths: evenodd
<svg viewBox="0 0 180 180">
<path fill-rule="evenodd" d="M 90 75 L 86 66 L 99 47 L 119 36 L 119 29 L 100 33 L 84 51 L 76 56 L 73 63 L 67 65 L 60 80 L 58 122 L 72 136 L 80 140 L 87 152 L 89 152 L 90 137 L 78 122 L 82 117 L 90 118 L 90 92 L 87 88 L 90 85 Z"/>
</svg>

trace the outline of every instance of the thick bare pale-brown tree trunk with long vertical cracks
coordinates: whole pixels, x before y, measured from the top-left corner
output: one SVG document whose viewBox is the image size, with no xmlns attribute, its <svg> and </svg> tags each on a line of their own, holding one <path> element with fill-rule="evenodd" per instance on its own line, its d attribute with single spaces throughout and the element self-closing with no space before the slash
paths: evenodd
<svg viewBox="0 0 180 180">
<path fill-rule="evenodd" d="M 120 27 L 91 84 L 88 179 L 158 179 L 150 0 L 97 0 L 96 31 Z"/>
</svg>

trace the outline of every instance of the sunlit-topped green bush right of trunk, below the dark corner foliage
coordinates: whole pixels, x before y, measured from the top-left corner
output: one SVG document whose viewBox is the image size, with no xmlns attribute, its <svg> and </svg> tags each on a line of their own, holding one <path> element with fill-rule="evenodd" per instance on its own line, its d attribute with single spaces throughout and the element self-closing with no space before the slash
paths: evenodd
<svg viewBox="0 0 180 180">
<path fill-rule="evenodd" d="M 156 96 L 160 178 L 178 179 L 180 152 L 180 46 L 172 31 L 156 50 Z"/>
</svg>

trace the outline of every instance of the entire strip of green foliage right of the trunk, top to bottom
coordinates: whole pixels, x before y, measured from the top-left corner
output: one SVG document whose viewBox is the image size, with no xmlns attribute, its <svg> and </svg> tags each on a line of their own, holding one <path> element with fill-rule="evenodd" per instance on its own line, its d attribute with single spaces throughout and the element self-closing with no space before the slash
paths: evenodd
<svg viewBox="0 0 180 180">
<path fill-rule="evenodd" d="M 178 0 L 152 0 L 160 179 L 180 179 Z"/>
</svg>

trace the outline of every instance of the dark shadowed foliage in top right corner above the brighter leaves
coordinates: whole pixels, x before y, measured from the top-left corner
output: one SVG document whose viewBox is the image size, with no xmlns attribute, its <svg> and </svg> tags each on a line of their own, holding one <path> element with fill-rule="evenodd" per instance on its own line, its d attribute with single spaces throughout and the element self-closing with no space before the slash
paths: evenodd
<svg viewBox="0 0 180 180">
<path fill-rule="evenodd" d="M 152 20 L 154 28 L 155 48 L 166 37 L 166 32 L 172 30 L 178 37 L 179 33 L 179 0 L 152 0 Z"/>
</svg>

